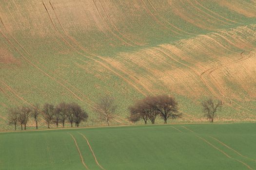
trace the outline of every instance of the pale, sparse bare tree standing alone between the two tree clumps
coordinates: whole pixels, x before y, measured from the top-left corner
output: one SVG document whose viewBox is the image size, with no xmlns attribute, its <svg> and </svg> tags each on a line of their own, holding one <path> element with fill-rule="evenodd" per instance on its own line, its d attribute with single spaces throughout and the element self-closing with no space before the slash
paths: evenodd
<svg viewBox="0 0 256 170">
<path fill-rule="evenodd" d="M 115 119 L 117 105 L 115 99 L 109 95 L 103 96 L 95 106 L 95 112 L 98 113 L 99 119 L 106 121 L 109 126 L 109 121 Z"/>
</svg>

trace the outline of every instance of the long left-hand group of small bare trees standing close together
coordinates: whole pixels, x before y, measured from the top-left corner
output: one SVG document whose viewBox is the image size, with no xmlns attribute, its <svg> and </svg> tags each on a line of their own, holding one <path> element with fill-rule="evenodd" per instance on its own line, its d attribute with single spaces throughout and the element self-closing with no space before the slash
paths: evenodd
<svg viewBox="0 0 256 170">
<path fill-rule="evenodd" d="M 32 106 L 21 106 L 9 109 L 9 124 L 14 125 L 15 130 L 18 124 L 21 130 L 23 130 L 23 127 L 24 130 L 26 130 L 27 123 L 31 118 L 34 119 L 36 123 L 36 129 L 38 129 L 40 119 L 46 122 L 48 128 L 50 128 L 51 124 L 55 124 L 57 128 L 59 124 L 62 124 L 62 127 L 64 127 L 66 121 L 71 124 L 71 127 L 73 127 L 74 123 L 76 127 L 79 127 L 82 121 L 87 120 L 88 114 L 81 106 L 74 102 L 61 102 L 56 106 L 45 103 L 42 108 L 40 108 L 39 104 L 35 104 Z"/>
</svg>

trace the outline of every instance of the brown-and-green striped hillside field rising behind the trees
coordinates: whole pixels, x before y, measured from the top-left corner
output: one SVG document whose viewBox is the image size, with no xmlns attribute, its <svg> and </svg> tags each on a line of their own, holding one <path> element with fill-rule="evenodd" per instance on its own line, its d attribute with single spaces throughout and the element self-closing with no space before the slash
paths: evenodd
<svg viewBox="0 0 256 170">
<path fill-rule="evenodd" d="M 143 96 L 168 93 L 201 120 L 256 119 L 255 0 L 0 0 L 0 128 L 12 105 L 118 99 L 117 122 Z"/>
</svg>

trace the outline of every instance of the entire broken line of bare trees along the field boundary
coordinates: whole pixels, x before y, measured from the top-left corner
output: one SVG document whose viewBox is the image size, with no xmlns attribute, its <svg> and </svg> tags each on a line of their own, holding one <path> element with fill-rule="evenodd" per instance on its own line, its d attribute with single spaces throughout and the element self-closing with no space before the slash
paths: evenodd
<svg viewBox="0 0 256 170">
<path fill-rule="evenodd" d="M 207 99 L 201 102 L 204 116 L 213 122 L 217 110 L 222 106 L 222 102 L 216 99 Z M 128 107 L 130 115 L 128 119 L 131 122 L 143 120 L 145 124 L 151 121 L 155 124 L 155 120 L 159 117 L 163 119 L 166 124 L 168 119 L 180 118 L 181 112 L 178 111 L 178 102 L 175 97 L 170 95 L 156 95 L 148 96 L 137 100 Z M 117 104 L 112 96 L 105 95 L 94 105 L 94 112 L 98 116 L 98 120 L 105 121 L 109 126 L 111 120 L 115 120 L 117 114 Z M 36 129 L 38 129 L 39 121 L 43 120 L 47 127 L 55 125 L 65 126 L 69 123 L 71 127 L 79 127 L 81 122 L 86 122 L 88 114 L 85 110 L 75 102 L 66 103 L 61 102 L 57 105 L 45 103 L 42 107 L 39 104 L 24 105 L 21 107 L 10 108 L 8 110 L 8 123 L 15 126 L 20 125 L 21 130 L 26 130 L 27 123 L 30 119 L 35 122 Z"/>
</svg>

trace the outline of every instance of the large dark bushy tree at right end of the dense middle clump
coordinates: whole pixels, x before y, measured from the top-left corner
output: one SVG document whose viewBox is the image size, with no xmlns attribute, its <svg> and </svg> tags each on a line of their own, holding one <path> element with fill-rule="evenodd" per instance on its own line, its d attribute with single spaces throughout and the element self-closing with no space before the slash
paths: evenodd
<svg viewBox="0 0 256 170">
<path fill-rule="evenodd" d="M 167 119 L 169 118 L 177 118 L 179 115 L 178 111 L 178 102 L 172 96 L 168 95 L 158 95 L 153 97 L 153 105 L 156 110 L 159 112 L 162 119 L 164 119 L 164 123 L 167 123 Z"/>
</svg>

